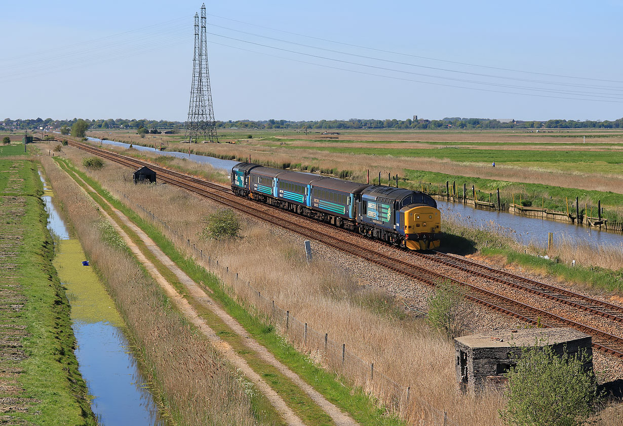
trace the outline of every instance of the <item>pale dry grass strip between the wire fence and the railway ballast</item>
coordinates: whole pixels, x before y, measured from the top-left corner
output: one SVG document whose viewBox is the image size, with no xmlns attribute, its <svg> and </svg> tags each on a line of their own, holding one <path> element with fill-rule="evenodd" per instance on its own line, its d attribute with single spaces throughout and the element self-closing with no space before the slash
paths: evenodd
<svg viewBox="0 0 623 426">
<path fill-rule="evenodd" d="M 74 164 L 80 164 L 82 152 L 75 149 L 67 152 Z M 380 290 L 362 289 L 354 277 L 332 262 L 307 264 L 299 247 L 252 223 L 244 224 L 245 238 L 241 241 L 199 241 L 201 218 L 214 209 L 207 201 L 169 185 L 136 187 L 124 178 L 128 169 L 110 162 L 100 171 L 87 173 L 129 206 L 135 207 L 133 202 L 140 203 L 166 221 L 179 237 L 181 249 L 191 254 L 193 244 L 196 245 L 212 259 L 216 257 L 221 266 L 227 265 L 231 271 L 239 272 L 239 282 L 252 282 L 266 297 L 290 310 L 293 317 L 328 333 L 335 341 L 344 342 L 359 358 L 374 361 L 376 371 L 410 385 L 412 404 L 402 412 L 406 419 L 434 421 L 432 411 L 426 408 L 428 404 L 439 412 L 446 411 L 450 420 L 457 424 L 500 424 L 497 410 L 502 400 L 499 396 L 457 394 L 452 343 L 417 320 L 401 320 L 387 311 L 379 314 L 378 300 L 391 302 L 389 295 Z M 149 219 L 142 210 L 137 211 Z M 191 240 L 190 244 L 182 244 L 186 239 Z M 240 299 L 252 300 L 252 295 L 239 290 Z M 374 389 L 368 387 L 368 390 Z M 385 402 L 391 405 L 391 401 Z"/>
</svg>

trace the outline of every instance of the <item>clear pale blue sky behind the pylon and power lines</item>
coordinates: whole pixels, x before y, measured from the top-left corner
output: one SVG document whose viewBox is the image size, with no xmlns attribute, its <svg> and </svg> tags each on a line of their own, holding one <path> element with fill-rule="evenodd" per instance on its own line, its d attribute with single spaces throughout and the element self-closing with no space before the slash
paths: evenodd
<svg viewBox="0 0 623 426">
<path fill-rule="evenodd" d="M 0 119 L 184 121 L 200 1 L 0 6 Z M 206 2 L 214 114 L 617 119 L 623 1 Z"/>
</svg>

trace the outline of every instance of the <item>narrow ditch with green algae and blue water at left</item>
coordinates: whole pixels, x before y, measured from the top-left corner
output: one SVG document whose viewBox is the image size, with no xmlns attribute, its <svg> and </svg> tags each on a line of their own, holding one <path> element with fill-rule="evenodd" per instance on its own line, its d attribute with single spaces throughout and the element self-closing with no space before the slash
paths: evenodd
<svg viewBox="0 0 623 426">
<path fill-rule="evenodd" d="M 55 234 L 54 266 L 71 304 L 72 328 L 77 340 L 78 369 L 93 396 L 91 407 L 102 426 L 166 426 L 146 387 L 146 381 L 128 350 L 123 320 L 114 302 L 89 266 L 77 238 L 52 203 L 52 191 L 42 173 L 47 227 Z"/>
</svg>

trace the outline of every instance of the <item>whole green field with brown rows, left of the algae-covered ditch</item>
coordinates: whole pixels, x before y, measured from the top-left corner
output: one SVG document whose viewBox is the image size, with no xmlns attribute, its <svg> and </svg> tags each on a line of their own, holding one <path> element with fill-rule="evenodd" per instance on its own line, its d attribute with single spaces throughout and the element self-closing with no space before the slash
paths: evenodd
<svg viewBox="0 0 623 426">
<path fill-rule="evenodd" d="M 0 413 L 7 424 L 95 425 L 36 165 L 0 157 Z"/>
</svg>

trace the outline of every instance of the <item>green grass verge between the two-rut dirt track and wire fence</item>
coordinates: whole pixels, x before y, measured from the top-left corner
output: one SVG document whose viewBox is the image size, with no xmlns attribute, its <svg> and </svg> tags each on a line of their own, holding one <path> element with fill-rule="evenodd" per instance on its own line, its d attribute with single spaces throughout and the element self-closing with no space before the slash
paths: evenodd
<svg viewBox="0 0 623 426">
<path fill-rule="evenodd" d="M 343 377 L 338 377 L 335 374 L 328 373 L 318 368 L 307 356 L 298 352 L 292 345 L 286 343 L 262 318 L 250 313 L 252 307 L 243 306 L 229 295 L 227 290 L 224 289 L 222 282 L 214 276 L 214 274 L 207 272 L 206 269 L 197 265 L 193 259 L 181 254 L 181 252 L 175 248 L 174 244 L 171 243 L 158 228 L 153 226 L 150 222 L 143 220 L 135 211 L 125 206 L 115 197 L 112 197 L 98 182 L 76 169 L 69 161 L 64 159 L 57 159 L 57 161 L 64 163 L 72 172 L 85 180 L 88 185 L 91 185 L 101 197 L 112 203 L 115 208 L 118 208 L 124 215 L 128 216 L 131 221 L 143 229 L 158 247 L 169 256 L 180 269 L 186 272 L 191 279 L 197 283 L 202 282 L 211 289 L 213 292 L 211 297 L 221 303 L 222 307 L 229 315 L 234 317 L 235 320 L 237 320 L 250 335 L 254 336 L 260 344 L 265 346 L 275 358 L 292 369 L 292 371 L 302 377 L 303 380 L 314 387 L 318 392 L 323 394 L 328 401 L 333 402 L 333 404 L 345 410 L 345 412 L 348 412 L 361 425 L 393 426 L 404 424 L 401 420 L 397 419 L 397 417 L 386 415 L 383 407 L 379 407 L 376 404 L 377 401 L 374 401 L 374 399 L 364 394 L 361 389 L 353 389 L 350 386 L 346 386 Z M 175 279 L 175 281 L 177 280 Z M 233 339 L 233 336 L 225 337 Z M 242 354 L 242 356 L 245 355 L 246 354 Z M 268 373 L 273 374 L 270 371 L 268 371 Z M 279 380 L 279 377 L 270 376 L 270 379 Z M 281 385 L 280 383 L 280 386 Z M 282 392 L 290 392 L 287 387 L 280 387 L 278 389 Z M 295 409 L 295 407 L 292 408 Z"/>
</svg>

